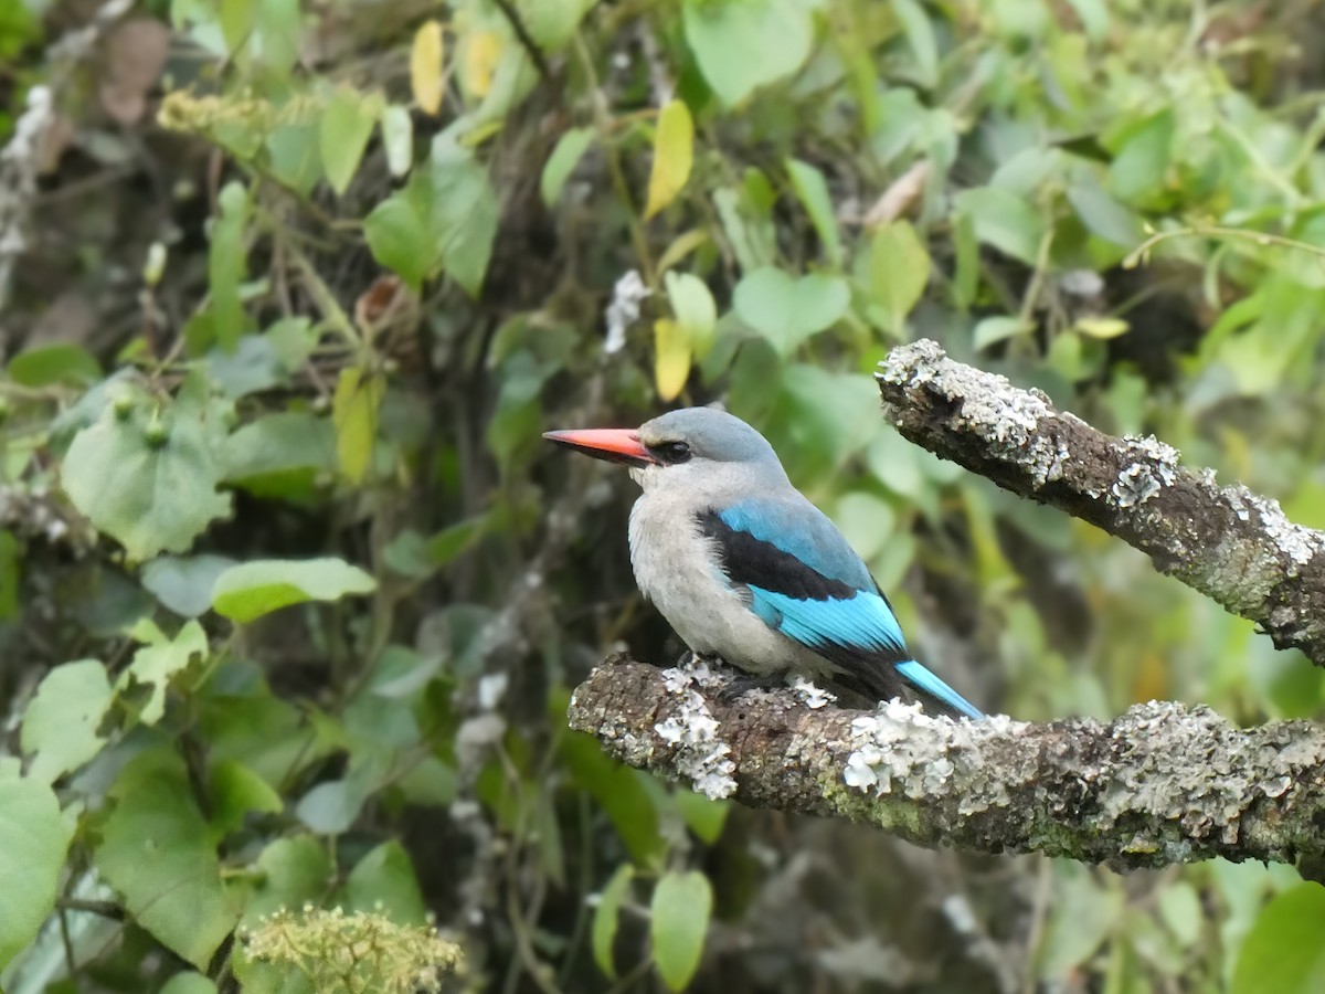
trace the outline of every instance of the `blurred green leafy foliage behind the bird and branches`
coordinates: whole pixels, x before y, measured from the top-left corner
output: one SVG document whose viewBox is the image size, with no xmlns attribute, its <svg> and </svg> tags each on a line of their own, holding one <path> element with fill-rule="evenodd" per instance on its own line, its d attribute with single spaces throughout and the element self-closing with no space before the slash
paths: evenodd
<svg viewBox="0 0 1325 994">
<path fill-rule="evenodd" d="M 629 484 L 538 435 L 725 402 L 991 709 L 1318 714 L 871 372 L 935 338 L 1325 525 L 1322 42 L 1314 0 L 0 0 L 4 989 L 1318 990 L 1292 868 L 615 766 L 571 688 L 681 647 Z"/>
</svg>

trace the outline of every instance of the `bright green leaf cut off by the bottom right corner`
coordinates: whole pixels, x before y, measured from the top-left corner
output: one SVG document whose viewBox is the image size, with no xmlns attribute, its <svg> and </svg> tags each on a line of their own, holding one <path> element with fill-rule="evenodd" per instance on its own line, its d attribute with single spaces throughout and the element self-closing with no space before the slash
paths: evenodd
<svg viewBox="0 0 1325 994">
<path fill-rule="evenodd" d="M 1305 883 L 1267 904 L 1234 969 L 1232 994 L 1325 989 L 1325 888 Z"/>
</svg>

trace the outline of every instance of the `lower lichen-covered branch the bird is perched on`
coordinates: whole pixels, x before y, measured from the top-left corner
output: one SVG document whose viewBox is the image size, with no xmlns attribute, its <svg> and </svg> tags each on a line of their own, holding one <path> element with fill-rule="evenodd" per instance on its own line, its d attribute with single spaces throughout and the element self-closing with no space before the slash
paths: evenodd
<svg viewBox="0 0 1325 994">
<path fill-rule="evenodd" d="M 704 667 L 615 657 L 576 689 L 571 728 L 698 790 L 867 822 L 931 848 L 1120 869 L 1211 856 L 1293 863 L 1325 848 L 1325 732 L 1309 722 L 1240 730 L 1208 708 L 1159 702 L 1109 724 L 953 722 L 896 701 L 811 708 L 791 689 L 727 702 L 725 684 Z"/>
</svg>

